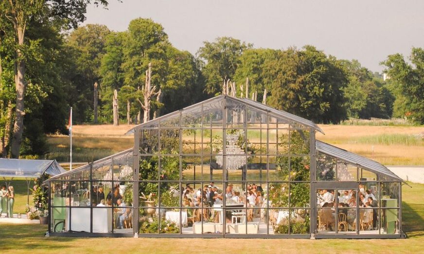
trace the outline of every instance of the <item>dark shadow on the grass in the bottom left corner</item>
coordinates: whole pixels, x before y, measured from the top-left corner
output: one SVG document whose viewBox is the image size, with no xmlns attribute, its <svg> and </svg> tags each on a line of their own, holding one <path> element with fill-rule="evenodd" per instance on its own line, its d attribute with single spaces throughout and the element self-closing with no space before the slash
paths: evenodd
<svg viewBox="0 0 424 254">
<path fill-rule="evenodd" d="M 45 225 L 38 224 L 1 224 L 1 250 L 36 250 L 70 247 L 75 237 L 44 237 Z"/>
</svg>

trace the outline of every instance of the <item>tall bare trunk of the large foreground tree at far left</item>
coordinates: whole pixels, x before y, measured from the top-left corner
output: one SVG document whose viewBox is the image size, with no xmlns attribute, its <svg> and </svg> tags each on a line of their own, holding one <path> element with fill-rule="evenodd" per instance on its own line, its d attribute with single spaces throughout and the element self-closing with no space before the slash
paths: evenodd
<svg viewBox="0 0 424 254">
<path fill-rule="evenodd" d="M 18 45 L 23 46 L 25 26 L 18 26 Z M 15 124 L 13 126 L 12 144 L 10 147 L 12 158 L 19 157 L 20 144 L 22 141 L 23 133 L 23 117 L 25 115 L 24 102 L 25 102 L 25 61 L 23 60 L 22 51 L 17 51 L 17 63 L 15 70 L 15 86 L 16 86 L 16 110 L 15 110 Z"/>
</svg>

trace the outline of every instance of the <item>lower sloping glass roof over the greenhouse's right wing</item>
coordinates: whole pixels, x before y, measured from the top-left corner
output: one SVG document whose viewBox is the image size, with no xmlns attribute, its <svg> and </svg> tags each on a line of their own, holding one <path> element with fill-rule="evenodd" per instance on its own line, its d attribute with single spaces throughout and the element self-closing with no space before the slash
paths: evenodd
<svg viewBox="0 0 424 254">
<path fill-rule="evenodd" d="M 348 152 L 344 149 L 332 146 L 330 144 L 324 143 L 322 141 L 316 140 L 316 150 L 318 152 L 322 152 L 325 154 L 328 154 L 330 156 L 339 158 L 341 160 L 344 160 L 348 163 L 351 163 L 353 165 L 359 165 L 359 167 L 363 169 L 368 169 L 377 175 L 384 175 L 391 178 L 394 178 L 396 180 L 399 180 L 401 182 L 403 181 L 399 176 L 397 176 L 395 173 L 390 171 L 390 169 L 386 168 L 384 165 L 373 161 L 369 158 L 363 157 L 361 155 L 355 154 L 353 152 Z"/>
</svg>

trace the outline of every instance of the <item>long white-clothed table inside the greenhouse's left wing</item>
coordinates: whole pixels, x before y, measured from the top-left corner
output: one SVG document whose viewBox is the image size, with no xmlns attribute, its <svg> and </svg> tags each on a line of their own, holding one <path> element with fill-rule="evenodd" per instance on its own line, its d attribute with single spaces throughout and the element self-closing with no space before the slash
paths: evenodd
<svg viewBox="0 0 424 254">
<path fill-rule="evenodd" d="M 76 232 L 90 232 L 90 208 L 71 208 L 71 230 Z M 66 230 L 70 228 L 69 208 L 66 208 Z M 93 233 L 107 233 L 112 231 L 112 209 L 93 208 Z"/>
</svg>

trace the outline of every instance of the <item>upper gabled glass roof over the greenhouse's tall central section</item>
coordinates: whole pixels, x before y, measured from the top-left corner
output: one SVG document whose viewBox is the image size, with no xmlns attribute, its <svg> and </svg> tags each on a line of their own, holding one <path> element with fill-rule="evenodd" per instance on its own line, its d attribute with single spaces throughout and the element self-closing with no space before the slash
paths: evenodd
<svg viewBox="0 0 424 254">
<path fill-rule="evenodd" d="M 322 134 L 324 134 L 324 132 L 321 130 L 321 128 L 318 127 L 317 124 L 315 124 L 314 122 L 307 120 L 307 119 L 303 119 L 301 117 L 298 117 L 296 115 L 272 108 L 270 106 L 267 106 L 265 104 L 262 104 L 260 102 L 255 102 L 249 99 L 239 99 L 239 98 L 235 98 L 235 97 L 231 97 L 229 95 L 220 95 L 220 96 L 216 96 L 214 98 L 211 98 L 209 100 L 203 101 L 203 102 L 199 102 L 196 103 L 194 105 L 191 105 L 189 107 L 183 108 L 179 111 L 175 111 L 173 113 L 164 115 L 162 117 L 159 117 L 157 119 L 153 119 L 150 120 L 148 122 L 145 123 L 141 123 L 135 127 L 133 127 L 132 129 L 130 129 L 126 134 L 131 134 L 134 133 L 135 129 L 138 128 L 158 128 L 159 124 L 163 127 L 175 127 L 175 128 L 179 128 L 179 117 L 180 117 L 180 112 L 182 113 L 182 117 L 184 118 L 184 115 L 190 112 L 191 116 L 197 116 L 198 118 L 201 119 L 202 116 L 202 110 L 203 110 L 203 115 L 204 115 L 204 111 L 205 109 L 208 111 L 219 111 L 222 110 L 223 106 L 224 106 L 224 100 L 225 103 L 227 105 L 231 105 L 232 107 L 235 107 L 237 104 L 240 107 L 251 107 L 254 108 L 258 111 L 262 111 L 262 112 L 269 112 L 270 116 L 275 116 L 278 118 L 282 118 L 285 120 L 290 120 L 292 122 L 296 122 L 305 126 L 309 126 L 312 127 L 313 129 L 317 130 L 318 132 L 321 132 Z M 199 126 L 196 126 L 199 127 Z"/>
</svg>

